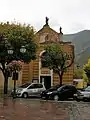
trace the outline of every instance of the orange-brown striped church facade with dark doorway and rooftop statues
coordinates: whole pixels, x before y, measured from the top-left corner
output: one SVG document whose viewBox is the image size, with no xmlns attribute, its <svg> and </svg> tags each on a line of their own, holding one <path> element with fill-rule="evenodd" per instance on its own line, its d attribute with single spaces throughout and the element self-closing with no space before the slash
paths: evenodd
<svg viewBox="0 0 90 120">
<path fill-rule="evenodd" d="M 53 70 L 49 70 L 42 66 L 41 56 L 45 53 L 44 46 L 51 43 L 57 43 L 63 47 L 64 51 L 74 55 L 74 46 L 71 42 L 63 42 L 63 33 L 60 28 L 60 32 L 50 28 L 48 25 L 48 19 L 46 18 L 46 24 L 41 30 L 36 33 L 36 43 L 38 45 L 36 60 L 30 62 L 30 64 L 24 64 L 22 71 L 22 83 L 33 81 L 42 82 L 49 88 L 52 85 L 59 84 L 59 76 L 54 73 Z M 73 83 L 74 63 L 70 66 L 67 72 L 63 75 L 63 84 Z"/>
</svg>

